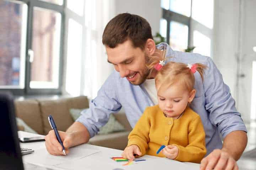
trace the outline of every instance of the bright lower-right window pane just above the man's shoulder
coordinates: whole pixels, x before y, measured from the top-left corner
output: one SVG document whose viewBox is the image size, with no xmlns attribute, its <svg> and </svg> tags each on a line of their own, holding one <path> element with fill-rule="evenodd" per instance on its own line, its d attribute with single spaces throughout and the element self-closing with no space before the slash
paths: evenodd
<svg viewBox="0 0 256 170">
<path fill-rule="evenodd" d="M 193 46 L 196 48 L 193 50 L 194 53 L 199 53 L 204 56 L 210 57 L 210 45 L 211 41 L 210 38 L 203 35 L 198 31 L 194 31 L 193 33 Z"/>
</svg>

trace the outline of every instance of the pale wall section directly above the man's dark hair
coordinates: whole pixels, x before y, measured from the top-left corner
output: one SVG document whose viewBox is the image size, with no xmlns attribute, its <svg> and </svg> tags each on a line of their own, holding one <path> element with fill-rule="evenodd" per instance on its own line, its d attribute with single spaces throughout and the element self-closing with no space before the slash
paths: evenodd
<svg viewBox="0 0 256 170">
<path fill-rule="evenodd" d="M 145 18 L 151 28 L 152 34 L 159 32 L 162 16 L 161 0 L 116 0 L 116 15 L 128 12 Z"/>
</svg>

